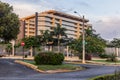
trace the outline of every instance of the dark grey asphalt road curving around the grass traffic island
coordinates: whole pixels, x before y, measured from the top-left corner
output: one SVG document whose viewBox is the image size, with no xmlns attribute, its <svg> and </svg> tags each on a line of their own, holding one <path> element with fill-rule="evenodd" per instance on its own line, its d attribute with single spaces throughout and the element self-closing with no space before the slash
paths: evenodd
<svg viewBox="0 0 120 80">
<path fill-rule="evenodd" d="M 78 65 L 80 66 L 80 65 Z M 42 74 L 14 63 L 12 59 L 0 59 L 0 80 L 87 80 L 98 75 L 113 73 L 120 67 L 81 65 L 88 69 L 76 72 Z"/>
</svg>

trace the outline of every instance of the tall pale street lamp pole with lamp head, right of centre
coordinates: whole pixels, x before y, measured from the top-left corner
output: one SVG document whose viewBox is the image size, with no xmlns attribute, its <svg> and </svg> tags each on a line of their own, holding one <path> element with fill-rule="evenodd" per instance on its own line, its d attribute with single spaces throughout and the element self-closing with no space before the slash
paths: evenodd
<svg viewBox="0 0 120 80">
<path fill-rule="evenodd" d="M 74 11 L 78 16 L 79 13 Z M 84 15 L 82 16 L 82 63 L 85 63 L 85 29 L 84 29 L 85 18 Z"/>
</svg>

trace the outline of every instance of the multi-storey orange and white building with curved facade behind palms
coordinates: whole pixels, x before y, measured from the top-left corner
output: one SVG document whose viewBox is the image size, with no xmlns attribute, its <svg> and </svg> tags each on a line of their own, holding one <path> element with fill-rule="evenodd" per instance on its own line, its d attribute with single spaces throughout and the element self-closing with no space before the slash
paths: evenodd
<svg viewBox="0 0 120 80">
<path fill-rule="evenodd" d="M 40 30 L 53 30 L 57 24 L 67 29 L 66 34 L 70 38 L 77 39 L 82 34 L 82 26 L 91 27 L 88 19 L 73 16 L 55 10 L 49 10 L 42 13 L 35 13 L 20 19 L 21 27 L 18 38 L 40 35 Z"/>
</svg>

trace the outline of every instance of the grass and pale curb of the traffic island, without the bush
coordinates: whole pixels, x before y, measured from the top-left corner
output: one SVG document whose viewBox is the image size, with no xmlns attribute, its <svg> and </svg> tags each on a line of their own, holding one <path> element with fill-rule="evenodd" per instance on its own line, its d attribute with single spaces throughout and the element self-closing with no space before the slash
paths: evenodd
<svg viewBox="0 0 120 80">
<path fill-rule="evenodd" d="M 33 60 L 24 60 L 24 61 L 16 61 L 22 65 L 35 69 L 36 71 L 42 73 L 57 73 L 57 72 L 71 72 L 84 70 L 85 68 L 76 66 L 73 64 L 62 64 L 62 65 L 36 65 Z"/>
</svg>

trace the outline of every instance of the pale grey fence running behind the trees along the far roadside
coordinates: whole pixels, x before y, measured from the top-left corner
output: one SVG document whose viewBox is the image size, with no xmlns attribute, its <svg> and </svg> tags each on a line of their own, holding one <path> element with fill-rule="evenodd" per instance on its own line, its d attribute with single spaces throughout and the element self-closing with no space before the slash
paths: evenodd
<svg viewBox="0 0 120 80">
<path fill-rule="evenodd" d="M 6 45 L 4 44 L 1 44 L 0 45 L 0 53 L 7 53 L 5 51 L 5 48 L 6 48 Z M 58 51 L 58 46 L 41 46 L 39 49 L 36 48 L 35 49 L 35 53 L 39 53 L 40 51 L 54 51 L 54 52 L 57 52 Z M 27 54 L 27 55 L 30 55 L 30 49 L 24 49 L 24 53 Z M 60 46 L 60 52 L 61 53 L 64 53 L 65 56 L 71 56 L 73 55 L 71 53 L 71 50 L 67 49 L 67 46 Z M 118 57 L 120 57 L 120 48 L 116 49 L 116 48 L 105 48 L 105 53 L 106 54 L 117 54 Z M 23 52 L 22 52 L 22 47 L 18 47 L 18 48 L 15 48 L 15 55 L 23 55 Z"/>
</svg>

